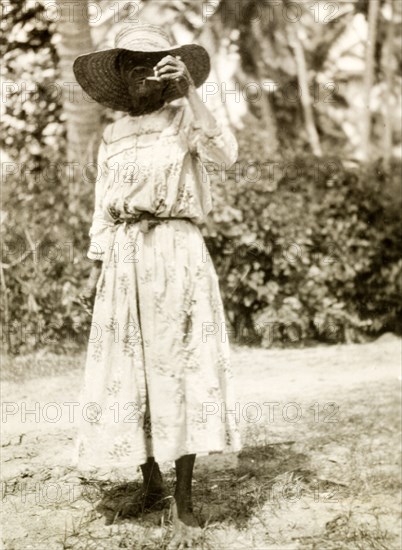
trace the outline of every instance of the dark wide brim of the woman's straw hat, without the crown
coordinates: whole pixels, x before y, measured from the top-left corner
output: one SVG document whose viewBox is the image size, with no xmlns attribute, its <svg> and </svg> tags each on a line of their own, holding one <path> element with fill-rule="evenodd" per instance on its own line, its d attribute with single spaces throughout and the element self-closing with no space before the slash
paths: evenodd
<svg viewBox="0 0 402 550">
<path fill-rule="evenodd" d="M 117 58 L 120 52 L 126 52 L 138 65 L 146 67 L 154 67 L 166 55 L 180 55 L 196 88 L 206 81 L 211 70 L 209 54 L 205 48 L 198 44 L 186 44 L 154 52 L 112 48 L 78 56 L 73 64 L 78 84 L 92 99 L 116 111 L 132 111 L 127 85 L 121 78 L 117 67 Z M 173 82 L 168 86 L 166 95 L 169 97 L 169 101 L 181 97 Z"/>
</svg>

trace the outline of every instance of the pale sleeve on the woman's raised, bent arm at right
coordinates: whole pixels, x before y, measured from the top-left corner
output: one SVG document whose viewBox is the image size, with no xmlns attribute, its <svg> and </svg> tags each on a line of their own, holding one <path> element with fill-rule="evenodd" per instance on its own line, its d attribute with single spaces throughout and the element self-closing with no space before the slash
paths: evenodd
<svg viewBox="0 0 402 550">
<path fill-rule="evenodd" d="M 201 162 L 225 164 L 230 168 L 238 157 L 238 143 L 229 127 L 216 121 L 215 128 L 204 130 L 199 122 L 194 120 L 191 109 L 186 109 L 184 116 L 184 131 L 192 154 Z"/>
</svg>

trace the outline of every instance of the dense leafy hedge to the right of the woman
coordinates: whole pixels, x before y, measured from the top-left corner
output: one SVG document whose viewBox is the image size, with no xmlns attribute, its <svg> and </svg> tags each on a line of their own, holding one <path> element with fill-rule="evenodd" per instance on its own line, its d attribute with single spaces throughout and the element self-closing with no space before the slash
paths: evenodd
<svg viewBox="0 0 402 550">
<path fill-rule="evenodd" d="M 361 341 L 400 330 L 400 166 L 344 166 L 289 151 L 275 163 L 252 130 L 217 173 L 207 238 L 238 341 Z M 239 178 L 240 176 L 240 178 Z"/>
</svg>

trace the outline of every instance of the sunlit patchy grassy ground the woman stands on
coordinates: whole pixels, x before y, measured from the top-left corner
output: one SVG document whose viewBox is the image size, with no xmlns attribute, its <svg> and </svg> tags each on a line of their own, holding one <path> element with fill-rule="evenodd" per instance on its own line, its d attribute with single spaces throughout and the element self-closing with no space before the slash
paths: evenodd
<svg viewBox="0 0 402 550">
<path fill-rule="evenodd" d="M 400 550 L 400 349 L 393 337 L 234 349 L 244 448 L 197 460 L 195 547 Z M 4 547 L 163 550 L 169 506 L 106 525 L 139 482 L 83 478 L 68 463 L 68 419 L 43 421 L 43 404 L 77 399 L 83 364 L 84 355 L 3 359 L 3 401 L 15 403 L 2 424 Z M 34 401 L 39 417 L 25 421 Z M 166 480 L 173 488 L 172 469 Z"/>
</svg>

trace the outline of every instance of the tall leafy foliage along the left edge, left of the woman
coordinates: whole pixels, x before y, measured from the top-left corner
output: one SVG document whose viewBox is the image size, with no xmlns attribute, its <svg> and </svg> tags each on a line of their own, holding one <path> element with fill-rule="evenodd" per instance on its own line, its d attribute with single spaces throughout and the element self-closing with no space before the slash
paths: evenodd
<svg viewBox="0 0 402 550">
<path fill-rule="evenodd" d="M 72 294 L 87 270 L 81 249 L 93 190 L 69 193 L 51 9 L 14 1 L 1 22 L 8 37 L 1 42 L 2 77 L 10 83 L 0 126 L 8 155 L 2 159 L 2 341 L 14 352 L 51 341 L 59 346 L 85 324 Z"/>
</svg>

